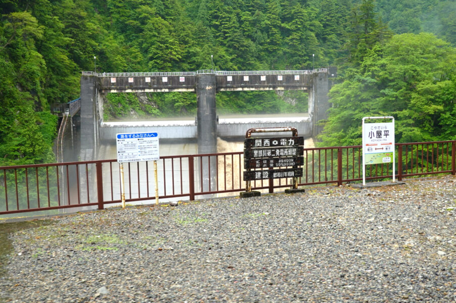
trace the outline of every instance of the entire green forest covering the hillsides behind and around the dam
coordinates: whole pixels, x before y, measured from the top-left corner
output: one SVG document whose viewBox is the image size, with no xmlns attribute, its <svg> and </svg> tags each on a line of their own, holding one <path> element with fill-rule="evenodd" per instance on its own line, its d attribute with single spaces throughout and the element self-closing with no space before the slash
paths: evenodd
<svg viewBox="0 0 456 303">
<path fill-rule="evenodd" d="M 0 166 L 55 162 L 50 104 L 81 71 L 338 68 L 321 146 L 361 143 L 394 116 L 396 142 L 456 139 L 452 0 L 0 0 Z M 211 60 L 212 56 L 212 60 Z M 192 115 L 194 94 L 108 96 L 106 118 Z M 302 92 L 217 94 L 217 111 L 306 111 Z"/>
</svg>

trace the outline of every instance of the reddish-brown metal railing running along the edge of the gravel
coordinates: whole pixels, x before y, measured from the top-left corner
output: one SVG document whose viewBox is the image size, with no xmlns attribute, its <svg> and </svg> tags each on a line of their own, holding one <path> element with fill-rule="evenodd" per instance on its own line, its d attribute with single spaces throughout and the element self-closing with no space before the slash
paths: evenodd
<svg viewBox="0 0 456 303">
<path fill-rule="evenodd" d="M 396 143 L 395 175 L 400 181 L 411 176 L 456 174 L 456 140 Z M 298 186 L 337 184 L 362 180 L 361 146 L 304 148 L 303 177 Z M 216 159 L 216 176 L 211 163 Z M 204 195 L 245 190 L 242 180 L 243 152 L 160 157 L 159 198 L 194 200 Z M 124 165 L 125 200 L 155 199 L 154 165 L 133 162 Z M 203 174 L 203 171 L 206 173 Z M 203 175 L 209 172 L 208 180 Z M 391 164 L 366 169 L 367 180 L 391 178 Z M 87 182 L 88 180 L 88 182 Z M 205 183 L 206 182 L 206 183 Z M 290 179 L 252 182 L 252 189 L 290 187 Z M 120 203 L 120 173 L 116 160 L 0 167 L 0 215 L 92 207 L 104 209 Z"/>
</svg>

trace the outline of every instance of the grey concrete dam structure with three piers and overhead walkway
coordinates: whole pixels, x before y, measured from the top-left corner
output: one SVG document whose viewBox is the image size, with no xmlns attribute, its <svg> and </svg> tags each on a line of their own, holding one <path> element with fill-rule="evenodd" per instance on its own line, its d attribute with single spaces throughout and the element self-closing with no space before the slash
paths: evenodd
<svg viewBox="0 0 456 303">
<path fill-rule="evenodd" d="M 336 68 L 286 71 L 214 71 L 154 72 L 154 73 L 94 73 L 83 72 L 81 76 L 81 160 L 94 160 L 100 139 L 124 132 L 125 126 L 103 122 L 102 95 L 108 92 L 171 92 L 193 91 L 197 95 L 196 121 L 180 125 L 170 122 L 155 124 L 160 138 L 197 138 L 198 153 L 216 152 L 218 135 L 243 136 L 250 125 L 240 130 L 231 124 L 217 124 L 215 95 L 219 91 L 243 90 L 307 90 L 309 92 L 309 121 L 300 134 L 315 136 L 321 129 L 317 122 L 327 118 L 328 91 L 331 78 L 337 76 Z M 267 123 L 266 123 L 267 124 Z M 130 131 L 134 127 L 129 125 Z M 173 130 L 174 127 L 174 130 Z M 178 131 L 177 128 L 179 127 Z M 246 128 L 247 127 L 247 128 Z M 264 127 L 255 125 L 253 127 Z M 270 124 L 270 127 L 277 127 Z M 138 131 L 142 131 L 138 125 Z M 160 129 L 163 128 L 163 131 Z M 166 129 L 167 130 L 166 130 Z M 226 128 L 226 129 L 224 129 Z M 235 134 L 233 132 L 241 132 Z"/>
</svg>

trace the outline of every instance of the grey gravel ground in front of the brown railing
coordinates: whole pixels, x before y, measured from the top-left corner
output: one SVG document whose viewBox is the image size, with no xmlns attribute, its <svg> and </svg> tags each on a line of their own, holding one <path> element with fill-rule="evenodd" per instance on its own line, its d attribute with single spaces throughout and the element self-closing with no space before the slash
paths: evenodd
<svg viewBox="0 0 456 303">
<path fill-rule="evenodd" d="M 12 235 L 11 302 L 456 302 L 456 178 L 54 218 Z"/>
</svg>

